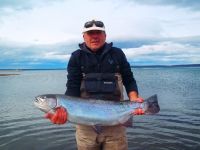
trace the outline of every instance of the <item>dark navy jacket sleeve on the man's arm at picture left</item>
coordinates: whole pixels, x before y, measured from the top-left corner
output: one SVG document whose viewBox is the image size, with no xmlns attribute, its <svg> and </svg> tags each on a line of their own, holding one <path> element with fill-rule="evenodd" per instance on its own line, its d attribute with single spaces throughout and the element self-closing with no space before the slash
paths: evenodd
<svg viewBox="0 0 200 150">
<path fill-rule="evenodd" d="M 81 66 L 79 62 L 79 51 L 75 51 L 72 53 L 68 66 L 67 66 L 67 90 L 65 92 L 65 95 L 69 96 L 80 96 L 80 85 L 81 85 L 81 79 L 82 79 L 82 74 L 81 74 Z"/>
</svg>

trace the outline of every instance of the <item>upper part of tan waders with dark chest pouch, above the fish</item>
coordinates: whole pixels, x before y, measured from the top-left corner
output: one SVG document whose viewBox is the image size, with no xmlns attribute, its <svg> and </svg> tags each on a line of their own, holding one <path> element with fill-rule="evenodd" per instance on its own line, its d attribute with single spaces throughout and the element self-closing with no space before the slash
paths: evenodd
<svg viewBox="0 0 200 150">
<path fill-rule="evenodd" d="M 123 83 L 119 73 L 83 73 L 81 97 L 122 101 Z"/>
</svg>

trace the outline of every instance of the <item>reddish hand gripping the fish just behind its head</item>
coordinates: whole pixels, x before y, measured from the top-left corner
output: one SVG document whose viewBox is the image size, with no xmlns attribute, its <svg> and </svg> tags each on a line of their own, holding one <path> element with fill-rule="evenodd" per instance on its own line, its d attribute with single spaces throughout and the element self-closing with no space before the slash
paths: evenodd
<svg viewBox="0 0 200 150">
<path fill-rule="evenodd" d="M 45 118 L 49 119 L 54 124 L 64 124 L 67 122 L 67 111 L 65 108 L 59 107 L 54 114 L 47 113 Z"/>
</svg>

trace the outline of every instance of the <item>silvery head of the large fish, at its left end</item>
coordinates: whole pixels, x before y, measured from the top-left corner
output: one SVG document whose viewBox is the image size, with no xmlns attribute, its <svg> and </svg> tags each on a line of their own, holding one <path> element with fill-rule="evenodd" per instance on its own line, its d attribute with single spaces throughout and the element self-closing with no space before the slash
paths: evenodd
<svg viewBox="0 0 200 150">
<path fill-rule="evenodd" d="M 58 100 L 55 95 L 40 95 L 35 98 L 34 104 L 43 112 L 54 112 L 58 107 Z"/>
</svg>

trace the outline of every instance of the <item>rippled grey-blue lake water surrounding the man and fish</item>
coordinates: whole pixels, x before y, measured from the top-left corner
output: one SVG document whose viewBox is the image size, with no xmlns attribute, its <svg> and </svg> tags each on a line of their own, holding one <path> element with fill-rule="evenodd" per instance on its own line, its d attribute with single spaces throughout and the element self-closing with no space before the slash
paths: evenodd
<svg viewBox="0 0 200 150">
<path fill-rule="evenodd" d="M 134 117 L 130 150 L 200 150 L 200 68 L 136 68 L 140 95 L 158 95 L 161 111 Z M 66 71 L 21 71 L 0 77 L 0 150 L 76 149 L 72 124 L 54 125 L 34 105 L 65 92 Z"/>
</svg>

